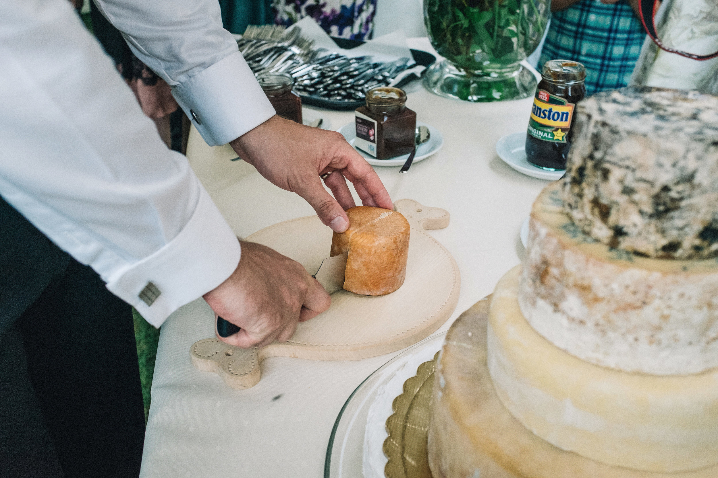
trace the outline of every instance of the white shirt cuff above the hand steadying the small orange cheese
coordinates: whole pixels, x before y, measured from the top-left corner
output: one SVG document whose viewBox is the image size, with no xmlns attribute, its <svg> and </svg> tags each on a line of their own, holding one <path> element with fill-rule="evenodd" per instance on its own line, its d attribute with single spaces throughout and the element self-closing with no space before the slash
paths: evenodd
<svg viewBox="0 0 718 478">
<path fill-rule="evenodd" d="M 172 95 L 210 146 L 229 143 L 276 114 L 239 52 L 172 87 Z"/>
</svg>

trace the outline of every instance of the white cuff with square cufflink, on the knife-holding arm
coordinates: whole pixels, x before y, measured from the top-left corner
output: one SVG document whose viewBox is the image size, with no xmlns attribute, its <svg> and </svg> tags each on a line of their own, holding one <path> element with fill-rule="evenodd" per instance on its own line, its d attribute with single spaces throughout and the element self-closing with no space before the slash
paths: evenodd
<svg viewBox="0 0 718 478">
<path fill-rule="evenodd" d="M 180 234 L 113 277 L 107 288 L 159 327 L 182 305 L 224 282 L 240 256 L 239 240 L 201 188 L 195 212 Z"/>
</svg>

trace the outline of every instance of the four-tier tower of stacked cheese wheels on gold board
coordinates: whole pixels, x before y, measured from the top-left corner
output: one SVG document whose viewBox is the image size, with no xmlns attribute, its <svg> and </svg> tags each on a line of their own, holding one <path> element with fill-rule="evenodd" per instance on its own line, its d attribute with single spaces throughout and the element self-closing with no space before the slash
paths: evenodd
<svg viewBox="0 0 718 478">
<path fill-rule="evenodd" d="M 434 478 L 718 477 L 718 98 L 603 92 L 574 128 L 523 265 L 449 331 Z"/>
</svg>

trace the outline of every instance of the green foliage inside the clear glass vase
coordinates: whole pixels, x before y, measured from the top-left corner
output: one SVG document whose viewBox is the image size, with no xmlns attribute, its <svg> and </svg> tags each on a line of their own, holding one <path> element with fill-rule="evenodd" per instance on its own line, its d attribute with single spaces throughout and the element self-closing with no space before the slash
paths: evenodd
<svg viewBox="0 0 718 478">
<path fill-rule="evenodd" d="M 544 33 L 549 0 L 424 0 L 434 48 L 467 72 L 520 62 Z"/>
</svg>

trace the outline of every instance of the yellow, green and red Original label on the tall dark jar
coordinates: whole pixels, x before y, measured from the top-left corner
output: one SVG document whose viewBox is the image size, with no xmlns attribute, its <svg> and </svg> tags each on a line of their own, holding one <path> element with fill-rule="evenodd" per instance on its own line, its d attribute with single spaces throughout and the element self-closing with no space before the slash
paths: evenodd
<svg viewBox="0 0 718 478">
<path fill-rule="evenodd" d="M 566 143 L 573 115 L 574 103 L 546 90 L 536 90 L 528 120 L 528 134 L 539 140 Z"/>
</svg>

